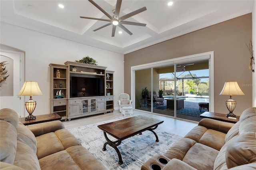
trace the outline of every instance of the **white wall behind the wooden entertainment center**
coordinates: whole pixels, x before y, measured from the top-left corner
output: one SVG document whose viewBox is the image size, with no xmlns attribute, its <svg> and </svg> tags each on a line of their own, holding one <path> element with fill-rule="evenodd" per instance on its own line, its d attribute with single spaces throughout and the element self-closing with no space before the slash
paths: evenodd
<svg viewBox="0 0 256 170">
<path fill-rule="evenodd" d="M 33 96 L 37 102 L 33 115 L 50 112 L 50 67 L 49 63 L 64 64 L 89 56 L 98 65 L 114 72 L 114 107 L 118 109 L 117 97 L 124 92 L 124 55 L 89 45 L 64 40 L 11 24 L 0 23 L 0 43 L 25 51 L 25 81 L 37 81 L 43 93 Z M 16 95 L 16 94 L 14 94 Z M 27 101 L 29 97 L 26 97 Z M 26 115 L 26 113 L 25 113 Z"/>
</svg>

